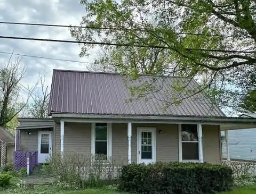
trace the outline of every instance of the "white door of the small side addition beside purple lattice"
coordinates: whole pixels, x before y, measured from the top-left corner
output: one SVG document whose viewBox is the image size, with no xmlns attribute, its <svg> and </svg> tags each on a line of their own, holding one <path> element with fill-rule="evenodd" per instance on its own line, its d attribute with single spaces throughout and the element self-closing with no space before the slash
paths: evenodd
<svg viewBox="0 0 256 194">
<path fill-rule="evenodd" d="M 38 163 L 45 163 L 52 153 L 52 131 L 38 131 Z"/>
</svg>

